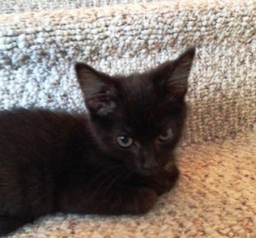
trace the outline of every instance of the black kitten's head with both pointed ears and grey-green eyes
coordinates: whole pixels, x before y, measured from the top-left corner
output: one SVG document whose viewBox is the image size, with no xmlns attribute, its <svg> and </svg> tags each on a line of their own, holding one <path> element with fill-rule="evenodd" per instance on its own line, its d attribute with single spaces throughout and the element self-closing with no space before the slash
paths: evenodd
<svg viewBox="0 0 256 238">
<path fill-rule="evenodd" d="M 149 175 L 173 160 L 186 116 L 185 94 L 195 48 L 151 71 L 110 77 L 75 65 L 91 127 L 106 160 Z"/>
</svg>

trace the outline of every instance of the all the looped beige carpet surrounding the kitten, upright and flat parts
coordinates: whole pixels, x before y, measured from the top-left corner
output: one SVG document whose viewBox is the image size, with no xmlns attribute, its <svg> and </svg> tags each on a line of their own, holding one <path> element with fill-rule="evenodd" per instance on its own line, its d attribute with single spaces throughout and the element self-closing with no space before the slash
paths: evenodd
<svg viewBox="0 0 256 238">
<path fill-rule="evenodd" d="M 197 48 L 177 188 L 142 217 L 59 215 L 10 237 L 256 237 L 256 0 L 140 2 L 0 0 L 0 109 L 84 111 L 75 61 L 128 74 Z"/>
</svg>

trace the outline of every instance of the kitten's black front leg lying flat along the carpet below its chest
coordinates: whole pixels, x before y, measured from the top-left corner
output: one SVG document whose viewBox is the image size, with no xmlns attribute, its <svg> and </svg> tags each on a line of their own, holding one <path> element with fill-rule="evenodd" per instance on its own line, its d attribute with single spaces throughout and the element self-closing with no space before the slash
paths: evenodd
<svg viewBox="0 0 256 238">
<path fill-rule="evenodd" d="M 156 192 L 146 187 L 130 186 L 119 189 L 94 192 L 87 190 L 69 192 L 60 201 L 60 212 L 83 214 L 143 214 L 148 212 L 157 200 Z"/>
</svg>

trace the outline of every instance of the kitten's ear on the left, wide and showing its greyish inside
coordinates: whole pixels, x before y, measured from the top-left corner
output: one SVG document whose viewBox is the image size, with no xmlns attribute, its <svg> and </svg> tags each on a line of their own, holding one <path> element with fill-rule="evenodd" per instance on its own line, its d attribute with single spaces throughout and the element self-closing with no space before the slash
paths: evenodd
<svg viewBox="0 0 256 238">
<path fill-rule="evenodd" d="M 76 76 L 90 114 L 106 116 L 116 107 L 111 77 L 84 63 L 75 64 Z"/>
</svg>

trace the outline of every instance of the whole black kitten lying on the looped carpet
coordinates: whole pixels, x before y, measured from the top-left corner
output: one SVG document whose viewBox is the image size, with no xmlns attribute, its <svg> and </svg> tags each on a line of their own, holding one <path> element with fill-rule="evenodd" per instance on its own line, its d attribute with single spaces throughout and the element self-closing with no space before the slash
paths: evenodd
<svg viewBox="0 0 256 238">
<path fill-rule="evenodd" d="M 128 77 L 78 63 L 89 115 L 1 111 L 0 235 L 54 212 L 148 212 L 178 178 L 173 150 L 194 55 Z"/>
</svg>

